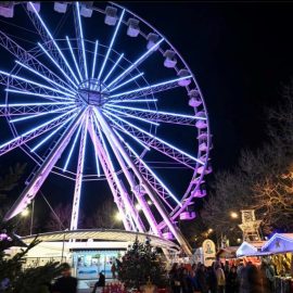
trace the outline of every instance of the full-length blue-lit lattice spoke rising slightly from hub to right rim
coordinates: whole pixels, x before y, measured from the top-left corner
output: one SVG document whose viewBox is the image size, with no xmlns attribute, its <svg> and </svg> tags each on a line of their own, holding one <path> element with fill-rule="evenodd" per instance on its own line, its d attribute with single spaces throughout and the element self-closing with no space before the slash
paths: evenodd
<svg viewBox="0 0 293 293">
<path fill-rule="evenodd" d="M 109 100 L 111 101 L 111 100 L 136 99 L 136 98 L 140 98 L 140 97 L 153 94 L 156 92 L 161 92 L 161 91 L 166 91 L 166 90 L 179 87 L 178 81 L 180 81 L 182 79 L 190 78 L 190 77 L 191 77 L 191 75 L 184 76 L 184 77 L 178 77 L 175 79 L 162 81 L 160 84 L 151 85 L 148 87 L 115 93 L 115 94 L 110 95 Z"/>
</svg>

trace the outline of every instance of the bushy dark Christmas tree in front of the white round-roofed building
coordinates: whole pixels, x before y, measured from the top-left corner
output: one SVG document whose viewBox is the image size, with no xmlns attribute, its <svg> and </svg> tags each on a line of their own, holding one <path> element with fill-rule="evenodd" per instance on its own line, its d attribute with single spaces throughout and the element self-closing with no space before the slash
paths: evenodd
<svg viewBox="0 0 293 293">
<path fill-rule="evenodd" d="M 132 246 L 117 260 L 118 280 L 127 289 L 140 289 L 141 285 L 151 282 L 158 288 L 167 284 L 165 262 L 150 241 L 140 243 L 135 241 Z"/>
</svg>

